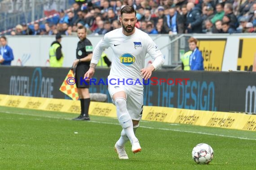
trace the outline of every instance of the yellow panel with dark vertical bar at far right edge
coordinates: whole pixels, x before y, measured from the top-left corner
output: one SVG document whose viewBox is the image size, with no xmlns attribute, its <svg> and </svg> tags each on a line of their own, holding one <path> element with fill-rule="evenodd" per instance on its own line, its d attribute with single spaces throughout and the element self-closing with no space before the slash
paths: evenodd
<svg viewBox="0 0 256 170">
<path fill-rule="evenodd" d="M 256 54 L 256 38 L 239 39 L 237 70 L 252 71 L 252 64 Z"/>
</svg>

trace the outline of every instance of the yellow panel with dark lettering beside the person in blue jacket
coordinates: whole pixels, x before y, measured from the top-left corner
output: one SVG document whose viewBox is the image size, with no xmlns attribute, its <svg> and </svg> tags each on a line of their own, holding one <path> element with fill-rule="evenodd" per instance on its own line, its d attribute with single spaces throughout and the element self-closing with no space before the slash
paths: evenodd
<svg viewBox="0 0 256 170">
<path fill-rule="evenodd" d="M 206 71 L 221 71 L 226 38 L 198 39 L 199 50 L 203 55 L 203 66 Z"/>
</svg>

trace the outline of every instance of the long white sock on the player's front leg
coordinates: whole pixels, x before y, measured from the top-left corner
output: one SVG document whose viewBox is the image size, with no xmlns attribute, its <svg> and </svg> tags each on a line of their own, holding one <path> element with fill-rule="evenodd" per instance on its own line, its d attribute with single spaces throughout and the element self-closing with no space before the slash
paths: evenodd
<svg viewBox="0 0 256 170">
<path fill-rule="evenodd" d="M 116 105 L 116 113 L 117 118 L 119 120 L 119 123 L 123 127 L 124 134 L 128 137 L 130 142 L 132 143 L 132 140 L 137 139 L 133 132 L 133 125 L 132 125 L 132 118 L 128 113 L 127 107 L 126 107 L 126 99 L 125 98 L 116 98 L 115 99 L 115 105 Z M 122 136 L 122 134 L 121 134 Z M 123 141 L 120 142 L 119 146 L 123 146 L 122 144 L 127 139 L 122 139 Z"/>
</svg>

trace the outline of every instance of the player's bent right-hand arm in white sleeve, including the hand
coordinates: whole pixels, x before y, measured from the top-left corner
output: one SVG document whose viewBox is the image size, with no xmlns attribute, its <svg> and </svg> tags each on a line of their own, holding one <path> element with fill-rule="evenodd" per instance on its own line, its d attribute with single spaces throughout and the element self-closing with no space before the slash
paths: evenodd
<svg viewBox="0 0 256 170">
<path fill-rule="evenodd" d="M 158 46 L 150 38 L 150 36 L 148 36 L 147 42 L 146 51 L 154 59 L 154 62 L 147 68 L 141 69 L 141 75 L 143 75 L 145 80 L 149 79 L 152 75 L 152 72 L 160 68 L 164 63 L 163 54 L 159 50 Z"/>
</svg>

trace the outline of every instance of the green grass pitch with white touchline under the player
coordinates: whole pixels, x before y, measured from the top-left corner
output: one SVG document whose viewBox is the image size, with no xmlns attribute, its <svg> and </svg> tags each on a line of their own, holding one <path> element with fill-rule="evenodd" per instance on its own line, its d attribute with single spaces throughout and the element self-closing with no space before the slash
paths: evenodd
<svg viewBox="0 0 256 170">
<path fill-rule="evenodd" d="M 171 114 L 171 113 L 170 113 Z M 141 153 L 126 144 L 128 160 L 119 160 L 114 144 L 117 119 L 0 107 L 0 170 L 255 170 L 256 132 L 141 121 Z M 77 133 L 75 133 L 77 132 Z M 198 165 L 193 147 L 210 144 L 214 159 Z"/>
</svg>

